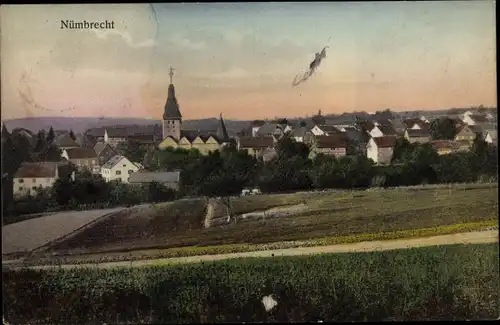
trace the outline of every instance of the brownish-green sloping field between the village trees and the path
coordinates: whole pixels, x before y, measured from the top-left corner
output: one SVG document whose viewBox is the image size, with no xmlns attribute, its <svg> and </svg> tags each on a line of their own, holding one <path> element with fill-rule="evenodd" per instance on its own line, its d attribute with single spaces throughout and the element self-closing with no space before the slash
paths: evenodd
<svg viewBox="0 0 500 325">
<path fill-rule="evenodd" d="M 234 215 L 298 204 L 305 204 L 308 210 L 204 228 L 207 201 L 185 199 L 107 217 L 46 253 L 121 254 L 183 246 L 261 244 L 496 220 L 498 185 L 301 192 L 246 196 L 231 202 Z M 224 206 L 216 206 L 216 216 L 225 213 Z"/>
</svg>

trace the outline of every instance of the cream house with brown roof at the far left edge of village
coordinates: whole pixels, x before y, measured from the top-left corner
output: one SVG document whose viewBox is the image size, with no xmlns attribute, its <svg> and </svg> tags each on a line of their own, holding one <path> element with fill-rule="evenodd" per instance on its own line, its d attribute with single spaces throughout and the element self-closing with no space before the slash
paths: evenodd
<svg viewBox="0 0 500 325">
<path fill-rule="evenodd" d="M 52 187 L 58 178 L 56 162 L 23 163 L 14 174 L 14 196 L 36 195 L 38 190 Z"/>
</svg>

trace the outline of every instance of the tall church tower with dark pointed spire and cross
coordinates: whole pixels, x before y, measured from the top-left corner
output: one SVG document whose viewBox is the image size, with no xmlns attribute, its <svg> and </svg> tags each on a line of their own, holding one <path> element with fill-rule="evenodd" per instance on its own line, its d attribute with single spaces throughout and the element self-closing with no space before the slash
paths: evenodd
<svg viewBox="0 0 500 325">
<path fill-rule="evenodd" d="M 174 69 L 172 69 L 172 67 L 170 67 L 169 76 L 170 84 L 168 85 L 167 102 L 165 103 L 165 109 L 163 111 L 163 139 L 170 136 L 176 140 L 180 140 L 182 114 L 179 109 L 179 104 L 177 103 L 177 98 L 175 98 L 175 88 L 172 81 Z"/>
</svg>

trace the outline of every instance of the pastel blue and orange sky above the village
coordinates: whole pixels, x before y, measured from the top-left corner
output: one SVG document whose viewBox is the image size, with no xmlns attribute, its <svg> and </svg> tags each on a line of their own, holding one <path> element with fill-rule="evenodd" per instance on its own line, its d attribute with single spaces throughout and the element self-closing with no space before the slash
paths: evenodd
<svg viewBox="0 0 500 325">
<path fill-rule="evenodd" d="M 159 119 L 170 66 L 184 119 L 496 106 L 495 24 L 494 1 L 2 6 L 2 119 Z"/>
</svg>

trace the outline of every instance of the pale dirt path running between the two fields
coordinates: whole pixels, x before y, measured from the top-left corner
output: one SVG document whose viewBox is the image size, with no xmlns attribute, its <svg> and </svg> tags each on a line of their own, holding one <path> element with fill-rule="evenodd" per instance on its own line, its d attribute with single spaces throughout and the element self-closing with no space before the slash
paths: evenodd
<svg viewBox="0 0 500 325">
<path fill-rule="evenodd" d="M 78 265 L 68 264 L 56 267 L 63 267 L 63 268 L 77 268 L 77 267 L 110 268 L 110 267 L 120 267 L 120 266 L 137 267 L 137 266 L 145 266 L 153 264 L 158 265 L 158 264 L 170 264 L 170 263 L 197 263 L 197 262 L 217 261 L 217 260 L 243 258 L 243 257 L 272 257 L 272 256 L 311 255 L 311 254 L 321 254 L 321 253 L 373 252 L 373 251 L 417 248 L 426 246 L 439 246 L 439 245 L 452 245 L 452 244 L 487 244 L 487 243 L 498 243 L 498 230 L 468 232 L 468 233 L 426 237 L 426 238 L 370 241 L 370 242 L 360 242 L 355 244 L 299 247 L 299 248 L 276 249 L 276 250 L 255 251 L 255 252 L 245 252 L 245 253 L 188 256 L 188 257 L 128 261 L 128 262 L 108 262 L 101 264 L 78 264 Z M 54 266 L 34 266 L 32 268 L 46 269 L 46 268 L 54 268 Z"/>
</svg>

